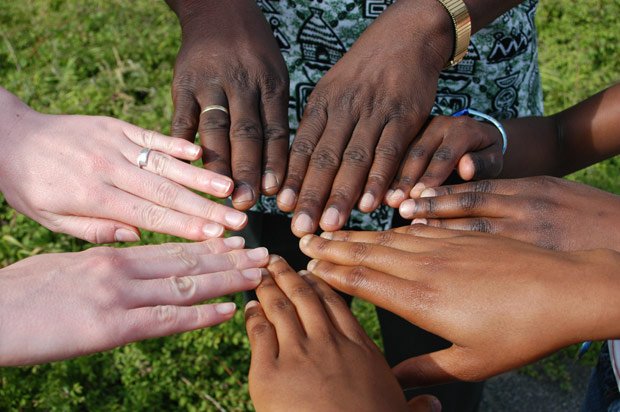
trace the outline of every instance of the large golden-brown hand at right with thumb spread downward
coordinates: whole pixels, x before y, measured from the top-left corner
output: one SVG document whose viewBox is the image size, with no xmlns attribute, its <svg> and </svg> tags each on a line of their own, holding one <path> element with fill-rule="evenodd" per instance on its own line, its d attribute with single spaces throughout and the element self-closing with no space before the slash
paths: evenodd
<svg viewBox="0 0 620 412">
<path fill-rule="evenodd" d="M 325 236 L 300 242 L 317 259 L 312 273 L 453 343 L 397 365 L 405 386 L 486 379 L 620 332 L 610 310 L 616 252 L 553 252 L 424 225 Z"/>
</svg>

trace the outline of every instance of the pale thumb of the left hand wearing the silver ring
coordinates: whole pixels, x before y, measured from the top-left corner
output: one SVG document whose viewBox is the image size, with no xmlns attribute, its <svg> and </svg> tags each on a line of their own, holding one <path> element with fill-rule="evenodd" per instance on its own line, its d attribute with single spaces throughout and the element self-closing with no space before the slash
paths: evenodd
<svg viewBox="0 0 620 412">
<path fill-rule="evenodd" d="M 62 216 L 50 229 L 90 243 L 138 242 L 140 240 L 140 231 L 133 226 L 93 217 Z"/>
</svg>

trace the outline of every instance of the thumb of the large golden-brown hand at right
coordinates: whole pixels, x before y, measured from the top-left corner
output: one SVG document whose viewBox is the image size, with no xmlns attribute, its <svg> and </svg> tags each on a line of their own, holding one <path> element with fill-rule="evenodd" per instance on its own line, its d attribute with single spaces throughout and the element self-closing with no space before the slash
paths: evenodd
<svg viewBox="0 0 620 412">
<path fill-rule="evenodd" d="M 454 380 L 473 380 L 467 372 L 469 364 L 463 351 L 451 346 L 437 352 L 407 359 L 392 370 L 403 388 L 415 388 L 447 383 Z"/>
</svg>

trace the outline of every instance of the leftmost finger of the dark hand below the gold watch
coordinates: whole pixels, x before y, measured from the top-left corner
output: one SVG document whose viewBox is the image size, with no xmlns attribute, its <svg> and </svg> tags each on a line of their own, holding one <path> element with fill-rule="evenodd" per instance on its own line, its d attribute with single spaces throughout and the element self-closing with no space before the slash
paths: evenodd
<svg viewBox="0 0 620 412">
<path fill-rule="evenodd" d="M 327 124 L 327 104 L 327 99 L 315 89 L 304 109 L 297 135 L 291 145 L 284 184 L 278 194 L 278 207 L 283 212 L 292 212 L 295 209 L 310 158 Z"/>
</svg>

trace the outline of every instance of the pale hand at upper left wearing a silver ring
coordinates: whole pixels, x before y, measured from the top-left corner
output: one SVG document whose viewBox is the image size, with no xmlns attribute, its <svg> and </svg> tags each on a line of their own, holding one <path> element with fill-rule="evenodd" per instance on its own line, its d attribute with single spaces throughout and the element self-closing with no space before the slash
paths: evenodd
<svg viewBox="0 0 620 412">
<path fill-rule="evenodd" d="M 1 137 L 0 189 L 48 229 L 108 243 L 139 240 L 136 227 L 204 240 L 246 224 L 245 214 L 183 187 L 217 197 L 232 192 L 229 178 L 178 160 L 199 158 L 200 147 L 108 117 L 22 106 L 21 121 Z M 143 147 L 153 151 L 141 169 Z"/>
</svg>

